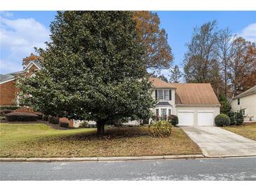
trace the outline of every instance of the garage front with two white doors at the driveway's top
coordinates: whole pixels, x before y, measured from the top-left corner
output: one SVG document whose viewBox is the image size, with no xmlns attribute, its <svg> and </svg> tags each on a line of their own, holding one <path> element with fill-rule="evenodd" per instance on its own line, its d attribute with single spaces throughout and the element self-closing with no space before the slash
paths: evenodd
<svg viewBox="0 0 256 192">
<path fill-rule="evenodd" d="M 193 109 L 194 108 L 194 109 Z M 220 113 L 220 107 L 179 107 L 177 108 L 177 116 L 179 125 L 214 125 L 214 118 Z"/>
</svg>

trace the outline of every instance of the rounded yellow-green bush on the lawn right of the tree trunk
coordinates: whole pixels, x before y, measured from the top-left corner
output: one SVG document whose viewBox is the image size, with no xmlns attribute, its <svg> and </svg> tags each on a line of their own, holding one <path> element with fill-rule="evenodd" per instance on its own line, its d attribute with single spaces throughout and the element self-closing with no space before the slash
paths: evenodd
<svg viewBox="0 0 256 192">
<path fill-rule="evenodd" d="M 149 125 L 149 134 L 153 137 L 168 137 L 172 132 L 172 125 L 168 121 L 159 121 Z"/>
</svg>

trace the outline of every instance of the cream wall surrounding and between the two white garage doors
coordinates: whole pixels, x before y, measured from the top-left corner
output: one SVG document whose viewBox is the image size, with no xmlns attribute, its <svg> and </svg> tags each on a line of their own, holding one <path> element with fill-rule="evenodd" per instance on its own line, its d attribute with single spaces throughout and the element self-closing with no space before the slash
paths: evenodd
<svg viewBox="0 0 256 192">
<path fill-rule="evenodd" d="M 175 115 L 178 115 L 179 111 L 194 111 L 194 125 L 198 125 L 198 112 L 197 111 L 213 111 L 213 118 L 220 114 L 220 107 L 218 106 L 177 106 Z M 213 121 L 214 122 L 214 121 Z"/>
</svg>

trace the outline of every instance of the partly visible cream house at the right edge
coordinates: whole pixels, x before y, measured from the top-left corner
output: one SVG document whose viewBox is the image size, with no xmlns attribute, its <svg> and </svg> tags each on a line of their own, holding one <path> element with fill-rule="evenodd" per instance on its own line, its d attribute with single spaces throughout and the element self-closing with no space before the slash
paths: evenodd
<svg viewBox="0 0 256 192">
<path fill-rule="evenodd" d="M 242 110 L 245 121 L 256 121 L 256 85 L 231 100 L 232 111 Z"/>
</svg>

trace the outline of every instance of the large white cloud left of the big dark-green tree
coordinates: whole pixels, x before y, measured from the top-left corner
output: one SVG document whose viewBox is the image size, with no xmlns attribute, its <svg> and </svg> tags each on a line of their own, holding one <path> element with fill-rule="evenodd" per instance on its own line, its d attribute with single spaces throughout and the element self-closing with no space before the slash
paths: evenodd
<svg viewBox="0 0 256 192">
<path fill-rule="evenodd" d="M 49 30 L 34 18 L 12 20 L 1 13 L 1 73 L 22 69 L 22 58 L 34 53 L 34 47 L 45 48 Z M 4 54 L 3 54 L 4 53 Z"/>
</svg>

